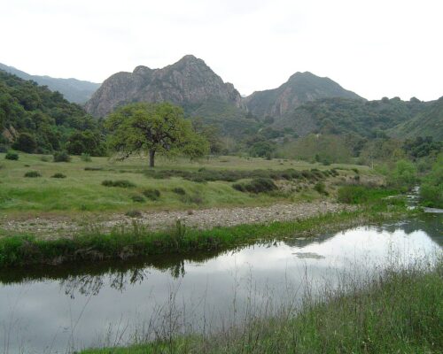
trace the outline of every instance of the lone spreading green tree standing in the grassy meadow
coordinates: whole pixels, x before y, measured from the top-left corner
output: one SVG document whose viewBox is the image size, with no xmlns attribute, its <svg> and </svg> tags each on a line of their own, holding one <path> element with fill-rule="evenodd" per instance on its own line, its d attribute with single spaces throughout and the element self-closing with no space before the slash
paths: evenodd
<svg viewBox="0 0 443 354">
<path fill-rule="evenodd" d="M 121 159 L 147 152 L 150 167 L 156 153 L 198 158 L 208 151 L 206 139 L 192 131 L 182 108 L 173 104 L 125 105 L 109 115 L 106 127 L 111 133 L 110 148 L 120 153 Z"/>
</svg>

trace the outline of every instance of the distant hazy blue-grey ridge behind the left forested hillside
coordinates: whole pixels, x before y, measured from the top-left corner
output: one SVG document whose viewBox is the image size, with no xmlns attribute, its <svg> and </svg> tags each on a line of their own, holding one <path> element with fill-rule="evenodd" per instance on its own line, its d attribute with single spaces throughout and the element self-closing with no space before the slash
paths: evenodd
<svg viewBox="0 0 443 354">
<path fill-rule="evenodd" d="M 13 66 L 8 66 L 0 63 L 0 70 L 6 73 L 13 73 L 23 80 L 32 80 L 41 86 L 47 86 L 51 91 L 58 91 L 65 96 L 66 100 L 74 104 L 84 104 L 92 94 L 100 87 L 99 83 L 81 81 L 77 79 L 56 79 L 51 76 L 31 75 L 22 72 Z"/>
</svg>

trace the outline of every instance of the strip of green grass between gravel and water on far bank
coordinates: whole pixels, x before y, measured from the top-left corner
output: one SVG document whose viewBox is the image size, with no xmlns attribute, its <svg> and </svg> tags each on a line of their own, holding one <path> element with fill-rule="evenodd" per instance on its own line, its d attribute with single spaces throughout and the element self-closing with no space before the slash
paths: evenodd
<svg viewBox="0 0 443 354">
<path fill-rule="evenodd" d="M 152 232 L 134 222 L 132 227 L 115 227 L 109 234 L 92 228 L 69 239 L 42 240 L 33 235 L 6 236 L 0 238 L 0 267 L 225 250 L 248 242 L 314 235 L 329 228 L 349 227 L 362 221 L 383 218 L 384 215 L 372 210 L 325 214 L 310 219 L 269 224 L 214 227 L 209 230 L 186 228 L 177 221 L 175 228 Z"/>
</svg>

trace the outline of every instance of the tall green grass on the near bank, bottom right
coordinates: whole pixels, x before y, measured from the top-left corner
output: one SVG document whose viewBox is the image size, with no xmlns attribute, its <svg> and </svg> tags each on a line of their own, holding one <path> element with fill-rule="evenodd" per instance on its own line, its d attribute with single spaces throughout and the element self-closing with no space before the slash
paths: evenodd
<svg viewBox="0 0 443 354">
<path fill-rule="evenodd" d="M 128 348 L 82 354 L 141 353 L 440 353 L 443 351 L 443 263 L 373 281 L 347 283 L 345 291 L 307 296 L 300 312 L 282 311 L 215 335 L 175 336 Z"/>
</svg>

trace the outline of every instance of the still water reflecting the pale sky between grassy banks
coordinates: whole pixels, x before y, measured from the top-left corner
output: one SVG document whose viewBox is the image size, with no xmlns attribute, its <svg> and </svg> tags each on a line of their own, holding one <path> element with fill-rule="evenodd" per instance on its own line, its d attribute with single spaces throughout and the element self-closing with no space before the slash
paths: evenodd
<svg viewBox="0 0 443 354">
<path fill-rule="evenodd" d="M 245 308 L 297 302 L 307 288 L 334 286 L 344 273 L 408 266 L 435 258 L 442 246 L 443 214 L 431 213 L 191 258 L 9 270 L 0 273 L 0 353 L 124 344 L 166 327 L 217 330 Z"/>
</svg>

